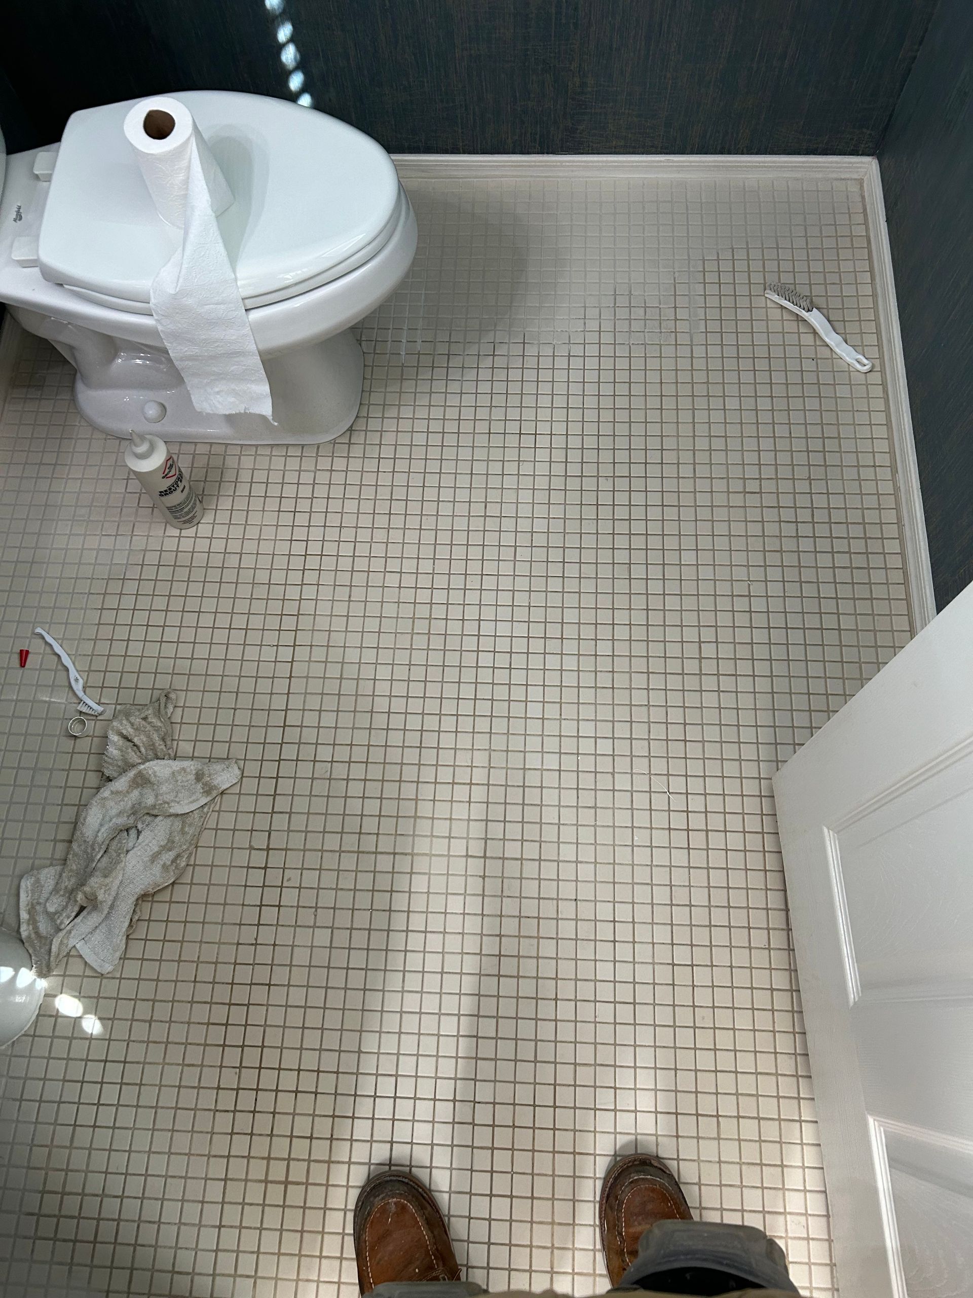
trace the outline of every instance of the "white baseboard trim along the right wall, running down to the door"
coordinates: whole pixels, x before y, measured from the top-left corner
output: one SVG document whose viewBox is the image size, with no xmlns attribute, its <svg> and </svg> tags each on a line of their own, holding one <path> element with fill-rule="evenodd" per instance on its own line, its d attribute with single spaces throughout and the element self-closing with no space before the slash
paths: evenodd
<svg viewBox="0 0 973 1298">
<path fill-rule="evenodd" d="M 893 466 L 895 491 L 899 497 L 899 526 L 906 557 L 906 582 L 909 593 L 912 630 L 919 632 L 935 617 L 933 570 L 929 563 L 929 539 L 922 513 L 922 489 L 916 463 L 916 440 L 912 431 L 906 358 L 902 353 L 899 308 L 895 300 L 889 228 L 885 223 L 885 199 L 878 160 L 869 161 L 864 177 L 865 217 L 868 241 L 872 247 L 872 274 L 874 279 L 878 334 L 885 358 L 885 387 L 889 395 L 891 423 Z"/>
</svg>

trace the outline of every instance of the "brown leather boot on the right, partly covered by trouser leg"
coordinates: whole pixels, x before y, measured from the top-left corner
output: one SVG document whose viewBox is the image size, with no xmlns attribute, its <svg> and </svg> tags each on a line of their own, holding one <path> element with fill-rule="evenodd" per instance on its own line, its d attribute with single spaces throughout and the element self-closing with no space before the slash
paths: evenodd
<svg viewBox="0 0 973 1298">
<path fill-rule="evenodd" d="M 666 1220 L 691 1221 L 693 1214 L 679 1181 L 662 1159 L 629 1154 L 608 1168 L 598 1223 L 612 1288 L 636 1260 L 642 1233 Z"/>
</svg>

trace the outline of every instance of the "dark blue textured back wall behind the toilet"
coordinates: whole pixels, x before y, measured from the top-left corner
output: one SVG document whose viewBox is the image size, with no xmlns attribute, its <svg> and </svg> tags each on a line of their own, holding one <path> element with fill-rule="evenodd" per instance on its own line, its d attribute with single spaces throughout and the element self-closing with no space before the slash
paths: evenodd
<svg viewBox="0 0 973 1298">
<path fill-rule="evenodd" d="M 873 153 L 935 0 L 285 0 L 306 90 L 393 152 Z M 265 0 L 8 5 L 36 143 L 77 108 L 287 97 Z"/>
</svg>

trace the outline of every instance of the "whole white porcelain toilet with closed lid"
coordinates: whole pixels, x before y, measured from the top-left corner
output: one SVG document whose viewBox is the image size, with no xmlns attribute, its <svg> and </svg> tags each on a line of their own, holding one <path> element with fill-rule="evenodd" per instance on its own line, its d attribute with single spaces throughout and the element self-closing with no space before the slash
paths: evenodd
<svg viewBox="0 0 973 1298">
<path fill-rule="evenodd" d="M 166 441 L 309 444 L 340 436 L 362 395 L 352 326 L 409 270 L 416 226 L 392 158 L 345 122 L 230 91 L 174 95 L 235 201 L 219 230 L 270 383 L 274 422 L 200 414 L 160 339 L 149 286 L 171 254 L 122 123 L 139 100 L 84 109 L 60 145 L 6 157 L 0 302 L 78 371 L 96 428 Z"/>
</svg>

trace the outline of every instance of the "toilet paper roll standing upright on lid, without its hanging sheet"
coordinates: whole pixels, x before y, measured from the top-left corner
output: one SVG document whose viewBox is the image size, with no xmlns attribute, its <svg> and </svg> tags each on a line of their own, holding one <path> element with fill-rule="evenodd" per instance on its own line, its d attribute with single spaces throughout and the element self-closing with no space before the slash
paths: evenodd
<svg viewBox="0 0 973 1298">
<path fill-rule="evenodd" d="M 170 226 L 182 227 L 186 215 L 193 143 L 206 178 L 213 212 L 219 215 L 234 201 L 226 177 L 192 113 L 178 99 L 158 95 L 136 104 L 125 119 L 125 135 L 135 149 L 156 209 Z"/>
</svg>

